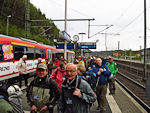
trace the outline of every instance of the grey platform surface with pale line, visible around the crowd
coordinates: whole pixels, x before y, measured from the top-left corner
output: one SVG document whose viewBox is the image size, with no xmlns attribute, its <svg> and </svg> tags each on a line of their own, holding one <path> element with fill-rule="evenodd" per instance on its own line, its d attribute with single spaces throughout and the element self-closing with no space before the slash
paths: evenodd
<svg viewBox="0 0 150 113">
<path fill-rule="evenodd" d="M 26 93 L 23 91 L 23 107 L 25 113 L 30 113 L 30 108 L 26 102 Z M 91 113 L 99 113 L 96 110 L 97 102 L 91 107 Z M 57 113 L 55 107 L 54 113 Z M 107 91 L 106 113 L 147 113 L 118 83 L 116 83 L 116 93 L 109 95 Z"/>
</svg>

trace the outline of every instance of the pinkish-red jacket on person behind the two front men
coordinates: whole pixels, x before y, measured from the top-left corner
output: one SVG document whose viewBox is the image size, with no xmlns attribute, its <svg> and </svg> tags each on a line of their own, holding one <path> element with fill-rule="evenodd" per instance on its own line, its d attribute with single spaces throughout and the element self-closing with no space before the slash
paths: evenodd
<svg viewBox="0 0 150 113">
<path fill-rule="evenodd" d="M 58 69 L 58 71 L 57 71 Z M 55 71 L 51 74 L 51 78 L 56 80 L 59 91 L 61 91 L 61 84 L 63 83 L 63 76 L 66 75 L 65 71 L 61 71 L 60 68 L 55 69 Z M 57 74 L 56 74 L 57 71 Z"/>
</svg>

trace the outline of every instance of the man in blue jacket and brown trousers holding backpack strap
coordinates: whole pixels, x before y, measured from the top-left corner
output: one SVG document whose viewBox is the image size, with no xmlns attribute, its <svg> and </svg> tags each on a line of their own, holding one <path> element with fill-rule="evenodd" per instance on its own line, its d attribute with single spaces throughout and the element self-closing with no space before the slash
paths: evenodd
<svg viewBox="0 0 150 113">
<path fill-rule="evenodd" d="M 111 72 L 108 71 L 107 66 L 104 67 L 102 65 L 101 58 L 96 59 L 96 75 L 97 75 L 97 83 L 96 83 L 96 95 L 98 101 L 98 109 L 100 109 L 100 113 L 105 113 L 106 111 L 106 94 L 107 94 L 107 78 L 111 75 Z"/>
</svg>

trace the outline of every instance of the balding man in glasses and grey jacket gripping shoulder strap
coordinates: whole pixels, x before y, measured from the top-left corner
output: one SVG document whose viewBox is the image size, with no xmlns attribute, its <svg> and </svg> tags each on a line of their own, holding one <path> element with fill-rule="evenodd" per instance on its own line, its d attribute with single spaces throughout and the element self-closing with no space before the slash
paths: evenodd
<svg viewBox="0 0 150 113">
<path fill-rule="evenodd" d="M 77 66 L 66 65 L 66 80 L 62 84 L 60 96 L 61 113 L 89 113 L 90 104 L 95 102 L 96 95 L 90 85 L 77 76 Z"/>
</svg>

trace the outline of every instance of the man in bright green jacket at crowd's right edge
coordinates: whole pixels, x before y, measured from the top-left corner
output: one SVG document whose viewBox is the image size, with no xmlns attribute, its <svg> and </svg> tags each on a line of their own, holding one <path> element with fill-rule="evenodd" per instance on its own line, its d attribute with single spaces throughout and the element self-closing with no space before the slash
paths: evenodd
<svg viewBox="0 0 150 113">
<path fill-rule="evenodd" d="M 113 61 L 113 58 L 109 57 L 109 62 L 107 62 L 106 65 L 109 67 L 109 70 L 113 74 L 113 78 L 109 82 L 110 94 L 115 94 L 115 77 L 116 73 L 118 72 L 117 64 Z"/>
</svg>

